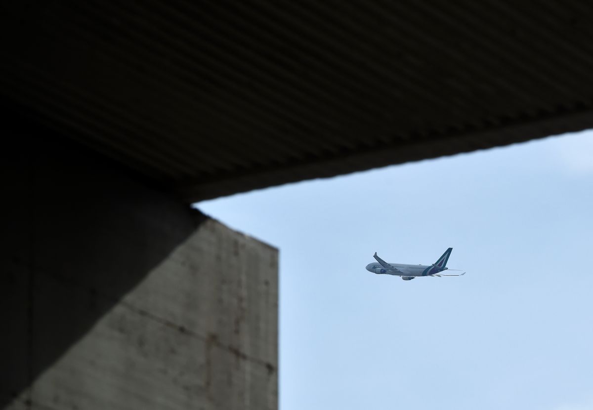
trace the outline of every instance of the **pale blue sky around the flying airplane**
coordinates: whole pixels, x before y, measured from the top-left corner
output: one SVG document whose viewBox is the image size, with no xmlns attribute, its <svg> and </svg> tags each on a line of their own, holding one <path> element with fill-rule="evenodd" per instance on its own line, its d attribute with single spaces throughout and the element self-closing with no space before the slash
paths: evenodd
<svg viewBox="0 0 593 410">
<path fill-rule="evenodd" d="M 198 207 L 280 249 L 281 410 L 593 409 L 593 132 Z"/>
</svg>

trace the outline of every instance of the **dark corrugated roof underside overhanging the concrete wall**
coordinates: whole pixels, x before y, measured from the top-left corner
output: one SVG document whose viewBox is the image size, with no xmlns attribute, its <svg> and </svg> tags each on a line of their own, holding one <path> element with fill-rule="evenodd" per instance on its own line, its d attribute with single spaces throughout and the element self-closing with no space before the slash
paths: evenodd
<svg viewBox="0 0 593 410">
<path fill-rule="evenodd" d="M 589 1 L 13 3 L 2 99 L 187 201 L 593 126 Z"/>
</svg>

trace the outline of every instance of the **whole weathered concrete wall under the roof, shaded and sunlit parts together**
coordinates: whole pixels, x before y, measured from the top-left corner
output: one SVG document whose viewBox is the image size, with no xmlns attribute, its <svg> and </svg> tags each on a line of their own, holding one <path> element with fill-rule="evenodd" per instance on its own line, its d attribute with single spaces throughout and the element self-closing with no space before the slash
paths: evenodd
<svg viewBox="0 0 593 410">
<path fill-rule="evenodd" d="M 277 408 L 278 251 L 59 137 L 10 132 L 0 408 Z"/>
</svg>

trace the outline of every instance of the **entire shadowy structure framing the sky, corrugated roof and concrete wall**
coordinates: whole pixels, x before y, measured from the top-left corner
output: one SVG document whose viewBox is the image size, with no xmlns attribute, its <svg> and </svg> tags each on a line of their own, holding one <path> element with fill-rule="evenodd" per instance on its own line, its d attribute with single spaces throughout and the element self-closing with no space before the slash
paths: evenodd
<svg viewBox="0 0 593 410">
<path fill-rule="evenodd" d="M 0 408 L 276 408 L 277 251 L 190 202 L 593 125 L 587 2 L 0 16 Z"/>
</svg>

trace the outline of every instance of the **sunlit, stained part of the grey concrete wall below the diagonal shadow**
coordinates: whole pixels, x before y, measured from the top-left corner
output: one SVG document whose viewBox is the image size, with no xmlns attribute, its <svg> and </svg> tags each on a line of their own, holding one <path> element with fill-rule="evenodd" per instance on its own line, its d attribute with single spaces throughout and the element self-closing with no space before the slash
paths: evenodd
<svg viewBox="0 0 593 410">
<path fill-rule="evenodd" d="M 277 266 L 207 220 L 36 380 L 33 408 L 276 408 Z"/>
</svg>

